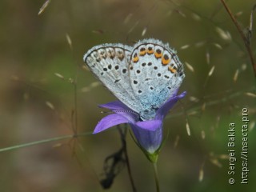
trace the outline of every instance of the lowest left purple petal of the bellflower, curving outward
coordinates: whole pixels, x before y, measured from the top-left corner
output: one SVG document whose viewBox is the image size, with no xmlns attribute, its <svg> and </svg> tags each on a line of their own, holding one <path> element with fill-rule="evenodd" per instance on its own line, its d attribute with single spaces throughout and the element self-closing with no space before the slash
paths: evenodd
<svg viewBox="0 0 256 192">
<path fill-rule="evenodd" d="M 105 118 L 102 118 L 100 122 L 98 122 L 97 126 L 94 129 L 93 134 L 98 134 L 103 130 L 110 128 L 111 126 L 117 126 L 122 123 L 129 122 L 127 118 L 123 117 L 120 114 L 110 114 Z"/>
</svg>

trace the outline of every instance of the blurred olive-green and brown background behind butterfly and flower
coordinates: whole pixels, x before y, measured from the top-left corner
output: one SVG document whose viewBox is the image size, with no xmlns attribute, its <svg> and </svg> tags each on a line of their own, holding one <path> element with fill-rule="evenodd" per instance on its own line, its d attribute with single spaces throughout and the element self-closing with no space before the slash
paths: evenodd
<svg viewBox="0 0 256 192">
<path fill-rule="evenodd" d="M 0 191 L 102 191 L 103 162 L 121 142 L 115 128 L 90 133 L 106 115 L 98 104 L 115 98 L 82 68 L 82 57 L 98 44 L 133 45 L 142 38 L 169 42 L 184 65 L 194 69 L 185 65 L 180 91 L 188 94 L 164 124 L 170 135 L 158 159 L 161 190 L 254 191 L 255 77 L 242 38 L 220 1 L 51 1 L 38 15 L 44 2 L 0 2 L 0 148 L 74 130 L 88 135 L 0 153 Z M 245 33 L 254 4 L 228 2 Z M 255 25 L 255 55 L 254 32 Z M 248 185 L 240 184 L 244 107 L 250 118 Z M 227 174 L 230 122 L 236 124 L 233 186 Z M 127 148 L 137 190 L 155 191 L 152 166 L 130 134 Z M 110 191 L 131 190 L 124 168 Z"/>
</svg>

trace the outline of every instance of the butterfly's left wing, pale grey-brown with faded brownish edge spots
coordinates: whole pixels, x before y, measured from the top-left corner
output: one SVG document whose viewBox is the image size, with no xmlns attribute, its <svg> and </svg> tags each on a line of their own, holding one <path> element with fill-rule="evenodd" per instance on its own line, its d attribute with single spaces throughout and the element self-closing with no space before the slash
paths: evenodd
<svg viewBox="0 0 256 192">
<path fill-rule="evenodd" d="M 103 44 L 88 50 L 83 60 L 114 96 L 126 106 L 134 108 L 137 102 L 128 74 L 131 50 L 132 47 L 122 44 Z"/>
</svg>

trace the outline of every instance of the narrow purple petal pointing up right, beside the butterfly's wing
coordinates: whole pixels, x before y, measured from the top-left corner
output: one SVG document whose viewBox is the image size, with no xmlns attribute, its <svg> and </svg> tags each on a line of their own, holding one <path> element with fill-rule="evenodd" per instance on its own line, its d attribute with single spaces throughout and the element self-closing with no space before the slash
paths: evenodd
<svg viewBox="0 0 256 192">
<path fill-rule="evenodd" d="M 163 104 L 157 111 L 157 114 L 154 119 L 163 119 L 165 118 L 168 111 L 174 106 L 176 102 L 178 102 L 178 99 L 184 98 L 186 95 L 186 91 L 184 91 L 182 94 L 176 95 L 173 98 L 169 98 L 165 104 Z"/>
</svg>

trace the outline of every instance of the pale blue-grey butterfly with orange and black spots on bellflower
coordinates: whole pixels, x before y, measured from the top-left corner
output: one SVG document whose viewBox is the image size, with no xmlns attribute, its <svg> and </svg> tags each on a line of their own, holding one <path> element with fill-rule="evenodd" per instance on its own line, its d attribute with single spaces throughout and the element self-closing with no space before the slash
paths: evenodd
<svg viewBox="0 0 256 192">
<path fill-rule="evenodd" d="M 83 60 L 103 85 L 142 121 L 153 119 L 158 108 L 177 94 L 185 78 L 176 51 L 154 38 L 143 39 L 134 46 L 94 46 Z"/>
</svg>

